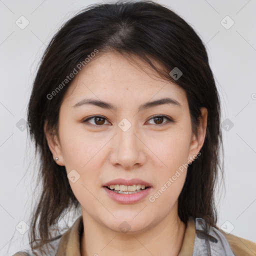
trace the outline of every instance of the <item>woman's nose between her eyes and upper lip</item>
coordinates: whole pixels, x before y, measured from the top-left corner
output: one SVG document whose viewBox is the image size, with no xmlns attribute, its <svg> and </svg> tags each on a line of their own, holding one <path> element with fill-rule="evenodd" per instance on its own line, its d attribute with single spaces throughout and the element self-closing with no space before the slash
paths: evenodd
<svg viewBox="0 0 256 256">
<path fill-rule="evenodd" d="M 116 132 L 117 134 L 112 138 L 110 163 L 125 170 L 143 165 L 146 161 L 146 146 L 133 125 L 126 131 L 117 127 Z"/>
</svg>

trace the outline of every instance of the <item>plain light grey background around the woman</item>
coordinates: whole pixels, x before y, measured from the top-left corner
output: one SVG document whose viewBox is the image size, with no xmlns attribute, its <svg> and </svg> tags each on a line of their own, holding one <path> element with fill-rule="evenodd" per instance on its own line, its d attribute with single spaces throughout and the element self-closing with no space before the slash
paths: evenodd
<svg viewBox="0 0 256 256">
<path fill-rule="evenodd" d="M 28 232 L 20 234 L 16 225 L 28 223 L 31 203 L 38 201 L 33 146 L 16 123 L 26 119 L 39 57 L 65 20 L 95 2 L 100 1 L 0 0 L 0 255 L 27 247 Z M 256 242 L 256 0 L 156 2 L 183 17 L 206 44 L 222 102 L 221 120 L 234 124 L 222 129 L 226 190 L 218 195 L 218 225 L 230 230 L 233 225 L 232 234 Z M 24 29 L 15 24 L 21 15 L 29 21 Z M 229 29 L 220 23 L 226 15 L 234 21 Z"/>
</svg>

